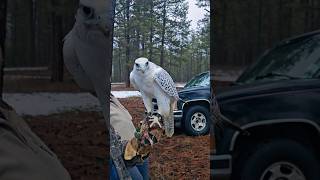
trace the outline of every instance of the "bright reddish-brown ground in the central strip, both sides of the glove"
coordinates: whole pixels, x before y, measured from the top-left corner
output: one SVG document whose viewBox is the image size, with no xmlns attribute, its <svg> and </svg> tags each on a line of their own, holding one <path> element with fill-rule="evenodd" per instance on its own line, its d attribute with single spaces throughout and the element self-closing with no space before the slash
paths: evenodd
<svg viewBox="0 0 320 180">
<path fill-rule="evenodd" d="M 137 124 L 144 113 L 140 98 L 120 100 Z M 209 179 L 210 136 L 191 137 L 177 129 L 157 144 L 150 156 L 151 179 Z"/>
</svg>

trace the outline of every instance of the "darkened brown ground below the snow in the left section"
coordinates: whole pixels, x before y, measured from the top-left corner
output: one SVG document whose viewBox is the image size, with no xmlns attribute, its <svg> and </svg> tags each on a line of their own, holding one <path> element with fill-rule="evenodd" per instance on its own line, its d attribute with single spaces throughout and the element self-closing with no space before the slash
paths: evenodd
<svg viewBox="0 0 320 180">
<path fill-rule="evenodd" d="M 64 112 L 24 117 L 75 180 L 108 177 L 106 125 L 98 112 Z"/>
</svg>

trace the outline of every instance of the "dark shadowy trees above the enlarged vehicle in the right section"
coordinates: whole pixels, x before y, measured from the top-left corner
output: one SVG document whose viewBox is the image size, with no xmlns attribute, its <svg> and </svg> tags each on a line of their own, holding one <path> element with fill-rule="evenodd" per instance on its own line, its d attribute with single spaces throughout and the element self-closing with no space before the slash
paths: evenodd
<svg viewBox="0 0 320 180">
<path fill-rule="evenodd" d="M 286 38 L 320 28 L 318 0 L 215 0 L 215 66 L 247 67 Z"/>
</svg>

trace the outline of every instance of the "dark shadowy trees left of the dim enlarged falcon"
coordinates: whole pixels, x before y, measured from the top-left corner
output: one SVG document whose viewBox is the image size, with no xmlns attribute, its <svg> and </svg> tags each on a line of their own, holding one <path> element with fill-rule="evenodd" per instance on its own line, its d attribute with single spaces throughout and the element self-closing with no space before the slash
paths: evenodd
<svg viewBox="0 0 320 180">
<path fill-rule="evenodd" d="M 78 0 L 7 2 L 6 67 L 50 67 L 53 57 L 61 53 L 54 44 L 58 38 L 54 28 L 59 27 L 54 17 L 61 17 L 65 35 L 73 26 Z"/>
</svg>

